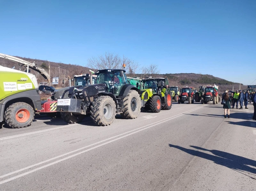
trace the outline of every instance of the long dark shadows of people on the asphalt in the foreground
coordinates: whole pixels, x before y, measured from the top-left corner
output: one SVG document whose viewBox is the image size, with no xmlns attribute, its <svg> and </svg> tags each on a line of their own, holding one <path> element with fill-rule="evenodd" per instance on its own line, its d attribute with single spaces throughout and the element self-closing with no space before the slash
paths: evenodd
<svg viewBox="0 0 256 191">
<path fill-rule="evenodd" d="M 249 159 L 249 158 L 244 158 L 238 155 L 234 155 L 234 154 L 230 154 L 228 152 L 224 152 L 224 151 L 218 151 L 218 150 L 208 150 L 208 149 L 204 149 L 201 147 L 197 147 L 197 146 L 190 146 L 193 147 L 195 149 L 199 149 L 202 151 L 209 151 L 214 155 L 211 154 L 207 154 L 201 151 L 196 151 L 193 149 L 186 149 L 184 147 L 180 147 L 177 145 L 173 145 L 173 144 L 169 144 L 170 147 L 179 149 L 180 151 L 184 151 L 190 155 L 196 156 L 196 157 L 200 157 L 200 158 L 204 158 L 207 160 L 211 160 L 214 163 L 218 164 L 218 165 L 222 165 L 222 166 L 226 166 L 232 170 L 235 170 L 239 173 L 244 174 L 245 173 L 253 173 L 254 175 L 256 174 L 256 168 L 252 168 L 250 166 L 247 165 L 251 165 L 256 167 L 256 161 Z M 247 174 L 244 174 L 246 176 L 249 176 Z M 250 178 L 256 180 L 256 178 L 253 178 L 251 176 L 249 176 Z"/>
</svg>

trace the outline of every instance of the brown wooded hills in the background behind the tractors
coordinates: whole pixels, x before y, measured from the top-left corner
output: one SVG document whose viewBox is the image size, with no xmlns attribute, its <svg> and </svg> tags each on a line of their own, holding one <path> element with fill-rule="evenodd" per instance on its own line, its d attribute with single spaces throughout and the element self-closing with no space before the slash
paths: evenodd
<svg viewBox="0 0 256 191">
<path fill-rule="evenodd" d="M 39 59 L 32 59 L 32 58 L 25 58 L 16 56 L 18 58 L 21 58 L 23 60 L 26 60 L 28 62 L 35 62 L 38 66 L 43 67 L 47 72 L 49 63 L 46 60 L 39 60 Z M 60 83 L 59 87 L 62 87 L 62 79 L 68 78 L 68 75 L 72 78 L 74 75 L 80 75 L 80 74 L 86 74 L 89 73 L 89 68 L 80 66 L 77 64 L 64 64 L 62 62 L 51 62 L 51 81 L 52 77 L 59 77 L 60 76 Z M 26 67 L 19 66 L 18 63 L 12 62 L 10 60 L 0 58 L 0 65 L 12 68 L 15 66 L 16 70 L 26 70 Z M 93 70 L 93 69 L 91 69 Z M 31 73 L 33 73 L 38 83 L 39 82 L 45 82 L 45 79 L 38 73 L 33 70 L 31 70 Z M 129 74 L 127 74 L 129 76 Z M 140 74 L 137 74 L 136 76 L 140 77 Z M 148 75 L 149 76 L 149 75 Z M 198 89 L 200 85 L 214 85 L 216 84 L 219 86 L 219 92 L 224 92 L 225 90 L 232 90 L 234 86 L 234 91 L 239 89 L 239 83 L 230 82 L 228 80 L 214 77 L 212 75 L 208 74 L 195 74 L 195 73 L 179 73 L 179 74 L 155 74 L 152 75 L 153 77 L 168 77 L 170 85 L 175 86 L 193 86 Z M 65 86 L 68 86 L 68 80 L 65 80 Z M 241 89 L 246 89 L 247 86 L 241 84 Z"/>
</svg>

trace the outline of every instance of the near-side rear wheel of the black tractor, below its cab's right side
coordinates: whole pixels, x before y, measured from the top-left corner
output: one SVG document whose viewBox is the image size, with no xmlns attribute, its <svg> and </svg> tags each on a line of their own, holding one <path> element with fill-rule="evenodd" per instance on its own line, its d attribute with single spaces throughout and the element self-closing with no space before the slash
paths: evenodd
<svg viewBox="0 0 256 191">
<path fill-rule="evenodd" d="M 140 94 L 136 90 L 130 90 L 124 98 L 124 111 L 121 113 L 125 119 L 135 119 L 140 114 Z"/>
</svg>

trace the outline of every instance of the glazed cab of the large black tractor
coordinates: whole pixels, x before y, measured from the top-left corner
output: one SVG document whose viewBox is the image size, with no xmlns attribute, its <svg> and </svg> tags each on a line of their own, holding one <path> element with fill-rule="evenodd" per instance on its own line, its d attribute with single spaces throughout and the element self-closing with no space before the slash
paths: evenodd
<svg viewBox="0 0 256 191">
<path fill-rule="evenodd" d="M 119 95 L 122 87 L 128 84 L 125 70 L 98 70 L 96 74 L 96 84 L 105 84 L 107 91 L 116 96 Z"/>
</svg>

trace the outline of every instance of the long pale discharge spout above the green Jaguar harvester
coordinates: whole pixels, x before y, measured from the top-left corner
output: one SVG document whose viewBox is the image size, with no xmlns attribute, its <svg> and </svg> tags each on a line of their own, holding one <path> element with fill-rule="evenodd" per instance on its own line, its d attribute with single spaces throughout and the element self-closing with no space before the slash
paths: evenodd
<svg viewBox="0 0 256 191">
<path fill-rule="evenodd" d="M 30 67 L 32 70 L 35 70 L 35 71 L 39 72 L 44 77 L 44 79 L 46 79 L 46 80 L 50 79 L 50 75 L 42 67 L 37 66 L 35 64 L 35 62 L 30 63 L 30 62 L 22 60 L 20 58 L 10 56 L 10 55 L 5 55 L 5 54 L 2 54 L 2 53 L 0 53 L 0 58 L 5 58 L 5 59 L 11 60 L 13 62 L 20 63 L 24 66 L 27 66 L 27 71 L 28 71 L 28 67 Z"/>
</svg>

